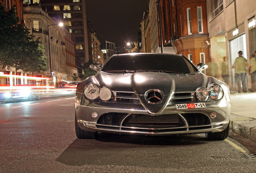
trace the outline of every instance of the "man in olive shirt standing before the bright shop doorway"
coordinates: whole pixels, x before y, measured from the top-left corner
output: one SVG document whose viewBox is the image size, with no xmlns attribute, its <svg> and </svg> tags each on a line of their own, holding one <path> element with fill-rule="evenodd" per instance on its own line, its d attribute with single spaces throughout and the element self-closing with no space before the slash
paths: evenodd
<svg viewBox="0 0 256 173">
<path fill-rule="evenodd" d="M 241 50 L 238 52 L 238 54 L 239 56 L 235 59 L 235 75 L 237 75 L 237 79 L 238 79 L 238 93 L 242 92 L 241 82 L 242 82 L 244 93 L 246 93 L 247 92 L 246 72 L 247 72 L 248 62 L 247 62 L 247 59 L 242 56 L 243 52 Z"/>
</svg>

